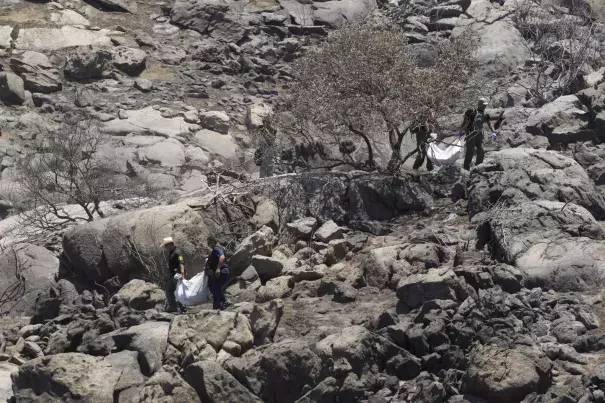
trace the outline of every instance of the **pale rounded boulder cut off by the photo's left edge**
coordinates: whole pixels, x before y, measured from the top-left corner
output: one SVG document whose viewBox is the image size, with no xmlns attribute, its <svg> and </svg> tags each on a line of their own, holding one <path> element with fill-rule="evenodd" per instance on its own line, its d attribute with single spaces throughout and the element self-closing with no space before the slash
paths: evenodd
<svg viewBox="0 0 605 403">
<path fill-rule="evenodd" d="M 0 295 L 8 303 L 0 314 L 33 315 L 40 296 L 54 284 L 59 259 L 41 246 L 12 245 L 0 252 Z"/>
</svg>

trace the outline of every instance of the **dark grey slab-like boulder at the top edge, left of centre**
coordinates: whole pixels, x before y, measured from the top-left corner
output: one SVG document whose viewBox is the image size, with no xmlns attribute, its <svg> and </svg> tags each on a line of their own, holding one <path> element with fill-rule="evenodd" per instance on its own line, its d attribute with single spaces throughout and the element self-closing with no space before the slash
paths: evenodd
<svg viewBox="0 0 605 403">
<path fill-rule="evenodd" d="M 222 42 L 235 43 L 245 35 L 238 13 L 225 0 L 177 0 L 170 20 Z"/>
</svg>

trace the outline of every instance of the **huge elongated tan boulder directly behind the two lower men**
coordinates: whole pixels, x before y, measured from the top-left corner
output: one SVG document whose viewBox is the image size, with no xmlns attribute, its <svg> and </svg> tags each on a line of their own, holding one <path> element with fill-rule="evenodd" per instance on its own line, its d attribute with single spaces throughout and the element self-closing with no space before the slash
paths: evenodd
<svg viewBox="0 0 605 403">
<path fill-rule="evenodd" d="M 69 260 L 95 281 L 114 276 L 124 283 L 141 276 L 161 280 L 167 270 L 162 239 L 173 237 L 188 273 L 196 274 L 196 268 L 204 265 L 205 245 L 214 225 L 204 211 L 182 202 L 80 225 L 66 233 L 63 247 Z"/>
</svg>

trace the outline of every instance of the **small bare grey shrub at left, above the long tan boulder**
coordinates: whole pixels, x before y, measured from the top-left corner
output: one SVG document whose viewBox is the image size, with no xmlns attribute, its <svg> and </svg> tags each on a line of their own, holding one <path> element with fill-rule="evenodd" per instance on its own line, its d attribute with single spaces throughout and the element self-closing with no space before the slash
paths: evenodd
<svg viewBox="0 0 605 403">
<path fill-rule="evenodd" d="M 37 136 L 15 159 L 21 197 L 27 201 L 24 221 L 42 230 L 105 216 L 101 202 L 143 192 L 142 182 L 119 176 L 115 162 L 99 153 L 109 138 L 88 120 L 65 123 L 57 133 Z M 129 183 L 120 193 L 118 178 Z M 74 211 L 76 205 L 81 211 Z"/>
</svg>

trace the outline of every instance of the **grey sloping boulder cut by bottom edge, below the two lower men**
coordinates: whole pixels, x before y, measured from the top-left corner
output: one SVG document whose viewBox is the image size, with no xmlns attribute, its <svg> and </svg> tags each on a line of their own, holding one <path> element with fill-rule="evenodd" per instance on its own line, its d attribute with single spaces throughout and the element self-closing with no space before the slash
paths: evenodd
<svg viewBox="0 0 605 403">
<path fill-rule="evenodd" d="M 184 376 L 203 402 L 262 402 L 216 362 L 202 361 L 190 365 Z"/>
</svg>

